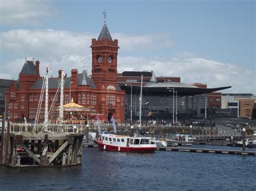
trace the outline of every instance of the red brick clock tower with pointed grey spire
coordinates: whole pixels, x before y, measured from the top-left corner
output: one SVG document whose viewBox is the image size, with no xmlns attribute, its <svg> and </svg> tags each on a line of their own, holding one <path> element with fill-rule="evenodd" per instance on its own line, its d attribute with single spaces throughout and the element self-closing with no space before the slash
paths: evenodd
<svg viewBox="0 0 256 191">
<path fill-rule="evenodd" d="M 105 12 L 104 12 L 105 13 Z M 118 40 L 112 40 L 106 25 L 106 15 L 98 39 L 92 39 L 92 80 L 96 88 L 117 88 Z"/>
</svg>

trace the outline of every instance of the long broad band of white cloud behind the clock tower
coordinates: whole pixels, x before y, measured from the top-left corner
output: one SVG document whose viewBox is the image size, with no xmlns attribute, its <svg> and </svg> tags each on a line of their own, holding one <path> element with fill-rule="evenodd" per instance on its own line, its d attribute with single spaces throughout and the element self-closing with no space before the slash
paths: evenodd
<svg viewBox="0 0 256 191">
<path fill-rule="evenodd" d="M 23 67 L 25 56 L 41 62 L 41 75 L 46 66 L 50 75 L 57 76 L 59 69 L 64 69 L 70 75 L 72 68 L 81 73 L 84 69 L 91 72 L 91 39 L 98 34 L 73 33 L 54 30 L 11 30 L 1 33 L 1 52 L 14 57 L 7 63 L 1 63 L 0 78 L 17 79 Z M 163 36 L 163 37 L 162 37 Z M 142 47 L 169 46 L 162 44 L 160 38 L 164 35 L 126 36 L 119 34 L 119 46 L 124 51 L 134 51 L 138 54 Z M 154 46 L 152 46 L 154 45 Z M 130 53 L 131 54 L 131 53 Z M 3 55 L 3 54 L 2 54 Z M 19 56 L 15 56 L 19 55 Z M 20 55 L 23 59 L 20 59 Z M 11 67 L 10 67 L 11 66 Z M 174 58 L 157 58 L 149 56 L 118 56 L 118 71 L 124 70 L 153 70 L 156 76 L 181 77 L 181 82 L 201 82 L 208 87 L 232 86 L 225 90 L 227 93 L 252 93 L 255 90 L 255 70 L 242 68 L 232 63 L 198 58 L 190 52 L 178 53 Z"/>
</svg>

